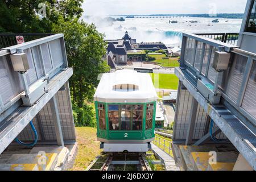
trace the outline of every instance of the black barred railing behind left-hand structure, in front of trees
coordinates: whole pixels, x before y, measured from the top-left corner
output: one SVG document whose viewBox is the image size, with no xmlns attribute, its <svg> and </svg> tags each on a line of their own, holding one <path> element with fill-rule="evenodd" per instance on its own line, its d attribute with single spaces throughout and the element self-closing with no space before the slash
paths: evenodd
<svg viewBox="0 0 256 182">
<path fill-rule="evenodd" d="M 53 34 L 0 34 L 0 49 L 5 47 L 14 46 L 17 43 L 16 36 L 23 36 L 24 42 L 44 38 Z"/>
</svg>

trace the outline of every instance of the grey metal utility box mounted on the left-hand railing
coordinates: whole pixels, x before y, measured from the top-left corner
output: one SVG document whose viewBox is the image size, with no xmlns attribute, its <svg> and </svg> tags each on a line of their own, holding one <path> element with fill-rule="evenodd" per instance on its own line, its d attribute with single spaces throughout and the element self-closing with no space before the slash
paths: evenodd
<svg viewBox="0 0 256 182">
<path fill-rule="evenodd" d="M 14 53 L 11 55 L 11 63 L 15 72 L 26 72 L 30 69 L 26 53 Z"/>
</svg>

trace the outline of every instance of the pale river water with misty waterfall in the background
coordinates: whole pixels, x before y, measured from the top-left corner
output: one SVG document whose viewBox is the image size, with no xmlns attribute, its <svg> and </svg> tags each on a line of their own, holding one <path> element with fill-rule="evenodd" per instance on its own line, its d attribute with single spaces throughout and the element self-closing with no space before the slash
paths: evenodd
<svg viewBox="0 0 256 182">
<path fill-rule="evenodd" d="M 112 16 L 118 18 L 118 16 Z M 104 18 L 104 17 L 103 17 Z M 105 34 L 105 39 L 121 39 L 125 31 L 137 42 L 163 42 L 167 46 L 179 46 L 182 32 L 190 33 L 223 33 L 239 32 L 242 19 L 135 16 L 125 18 L 124 22 L 106 23 L 102 18 L 85 18 L 85 22 L 95 23 L 98 31 Z M 171 23 L 177 21 L 177 23 Z M 191 21 L 196 21 L 192 23 Z"/>
</svg>

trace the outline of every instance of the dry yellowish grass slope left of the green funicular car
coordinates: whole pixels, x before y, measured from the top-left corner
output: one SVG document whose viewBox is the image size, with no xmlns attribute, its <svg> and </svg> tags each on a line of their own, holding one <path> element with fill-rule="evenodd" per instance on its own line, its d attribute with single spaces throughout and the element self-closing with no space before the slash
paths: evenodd
<svg viewBox="0 0 256 182">
<path fill-rule="evenodd" d="M 75 164 L 71 170 L 81 171 L 100 155 L 100 142 L 97 141 L 96 128 L 76 127 L 76 139 L 79 144 Z"/>
</svg>

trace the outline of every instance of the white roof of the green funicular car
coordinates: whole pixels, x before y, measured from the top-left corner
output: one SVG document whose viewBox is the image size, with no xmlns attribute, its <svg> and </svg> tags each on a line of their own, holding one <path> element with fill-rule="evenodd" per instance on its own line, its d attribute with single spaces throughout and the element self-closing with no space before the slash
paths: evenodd
<svg viewBox="0 0 256 182">
<path fill-rule="evenodd" d="M 134 103 L 151 102 L 157 99 L 150 75 L 129 69 L 104 73 L 94 94 L 94 101 L 99 102 Z"/>
</svg>

